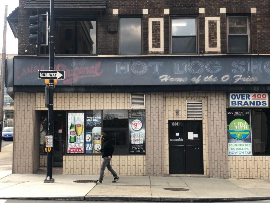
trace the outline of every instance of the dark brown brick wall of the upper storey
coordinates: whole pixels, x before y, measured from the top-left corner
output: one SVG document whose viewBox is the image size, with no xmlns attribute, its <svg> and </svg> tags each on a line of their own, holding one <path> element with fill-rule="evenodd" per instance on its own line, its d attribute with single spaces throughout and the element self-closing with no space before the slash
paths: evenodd
<svg viewBox="0 0 270 203">
<path fill-rule="evenodd" d="M 19 1 L 19 49 L 20 55 L 25 54 L 25 47 L 29 44 L 29 15 L 24 10 L 26 0 Z M 268 0 L 258 1 L 176 1 L 176 0 L 108 0 L 107 10 L 104 15 L 99 14 L 98 18 L 98 55 L 117 55 L 119 52 L 119 32 L 108 32 L 107 26 L 110 22 L 117 22 L 119 28 L 119 16 L 134 15 L 142 17 L 142 44 L 143 54 L 152 54 L 148 51 L 148 18 L 164 18 L 164 52 L 170 54 L 170 15 L 163 14 L 163 9 L 169 8 L 170 15 L 197 15 L 199 29 L 199 54 L 205 50 L 205 17 L 220 17 L 221 51 L 208 52 L 208 54 L 226 54 L 226 15 L 245 14 L 250 17 L 250 54 L 269 54 L 270 43 L 270 4 Z M 199 8 L 205 8 L 205 14 L 199 14 Z M 226 8 L 226 14 L 220 14 L 220 8 Z M 250 8 L 256 8 L 257 13 L 250 14 Z M 119 9 L 119 15 L 113 15 L 112 10 Z M 149 14 L 142 14 L 142 9 L 149 9 Z M 55 13 L 57 14 L 57 10 Z M 89 12 L 91 16 L 91 12 Z M 214 34 L 211 35 L 211 41 Z M 156 46 L 156 45 L 155 45 Z M 214 46 L 214 45 L 211 45 Z M 210 47 L 211 47 L 210 46 Z M 28 46 L 27 54 L 36 54 L 32 46 Z"/>
</svg>

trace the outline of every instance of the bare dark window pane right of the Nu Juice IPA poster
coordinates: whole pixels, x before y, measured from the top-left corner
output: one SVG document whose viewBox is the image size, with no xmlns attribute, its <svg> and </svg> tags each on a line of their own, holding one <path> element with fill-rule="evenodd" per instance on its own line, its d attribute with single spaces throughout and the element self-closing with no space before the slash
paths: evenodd
<svg viewBox="0 0 270 203">
<path fill-rule="evenodd" d="M 251 109 L 253 155 L 270 155 L 270 110 Z"/>
</svg>

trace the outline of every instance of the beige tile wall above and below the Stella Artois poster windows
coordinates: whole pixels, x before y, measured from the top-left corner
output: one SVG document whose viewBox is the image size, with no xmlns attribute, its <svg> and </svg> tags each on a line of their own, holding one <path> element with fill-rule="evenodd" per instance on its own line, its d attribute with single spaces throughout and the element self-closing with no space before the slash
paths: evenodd
<svg viewBox="0 0 270 203">
<path fill-rule="evenodd" d="M 36 94 L 36 110 L 47 110 L 44 94 Z M 130 109 L 129 93 L 55 93 L 54 110 Z M 138 109 L 138 108 L 132 108 Z M 46 166 L 46 156 L 40 156 L 40 166 Z M 145 156 L 113 156 L 112 166 L 119 175 L 145 175 Z M 95 166 L 94 168 L 92 166 Z M 63 157 L 63 174 L 99 174 L 101 156 L 68 155 Z M 82 168 L 81 171 L 77 168 Z M 89 168 L 88 168 L 89 167 Z M 89 170 L 89 169 L 92 170 Z M 110 174 L 110 172 L 106 172 Z"/>
</svg>

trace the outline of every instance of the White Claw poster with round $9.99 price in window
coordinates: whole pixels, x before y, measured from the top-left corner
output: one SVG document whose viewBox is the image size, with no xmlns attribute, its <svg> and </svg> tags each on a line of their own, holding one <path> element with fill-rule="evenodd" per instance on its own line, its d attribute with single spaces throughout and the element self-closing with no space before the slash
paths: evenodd
<svg viewBox="0 0 270 203">
<path fill-rule="evenodd" d="M 145 154 L 145 119 L 129 119 L 129 153 Z"/>
</svg>

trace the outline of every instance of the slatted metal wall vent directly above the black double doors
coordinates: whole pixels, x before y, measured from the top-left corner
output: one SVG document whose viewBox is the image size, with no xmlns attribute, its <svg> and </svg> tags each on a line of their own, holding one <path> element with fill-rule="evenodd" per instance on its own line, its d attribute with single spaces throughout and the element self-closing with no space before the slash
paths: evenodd
<svg viewBox="0 0 270 203">
<path fill-rule="evenodd" d="M 202 120 L 202 100 L 187 100 L 187 119 Z"/>
</svg>

